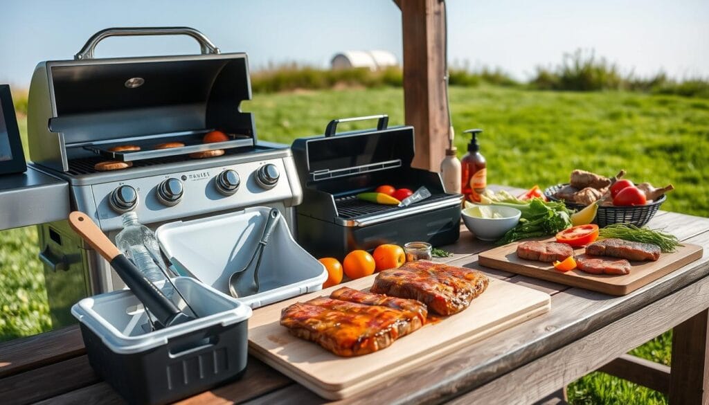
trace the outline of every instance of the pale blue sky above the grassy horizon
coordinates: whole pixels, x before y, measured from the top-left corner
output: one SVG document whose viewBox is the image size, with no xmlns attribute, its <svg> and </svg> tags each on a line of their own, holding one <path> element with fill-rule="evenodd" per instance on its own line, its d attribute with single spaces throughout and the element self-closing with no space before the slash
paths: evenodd
<svg viewBox="0 0 709 405">
<path fill-rule="evenodd" d="M 450 61 L 499 66 L 520 79 L 576 48 L 626 71 L 709 77 L 706 0 L 448 0 Z M 111 26 L 192 26 L 223 52 L 325 66 L 341 50 L 401 59 L 401 13 L 391 0 L 0 0 L 0 82 L 26 87 L 37 62 L 71 59 Z M 111 38 L 97 57 L 196 52 L 189 38 Z"/>
</svg>

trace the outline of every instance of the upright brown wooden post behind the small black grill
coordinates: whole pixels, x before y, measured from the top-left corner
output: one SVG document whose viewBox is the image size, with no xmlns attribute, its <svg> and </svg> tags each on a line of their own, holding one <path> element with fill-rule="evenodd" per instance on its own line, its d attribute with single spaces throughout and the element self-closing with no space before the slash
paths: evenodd
<svg viewBox="0 0 709 405">
<path fill-rule="evenodd" d="M 413 165 L 438 172 L 448 143 L 445 16 L 440 0 L 399 1 L 406 123 L 414 127 Z"/>
</svg>

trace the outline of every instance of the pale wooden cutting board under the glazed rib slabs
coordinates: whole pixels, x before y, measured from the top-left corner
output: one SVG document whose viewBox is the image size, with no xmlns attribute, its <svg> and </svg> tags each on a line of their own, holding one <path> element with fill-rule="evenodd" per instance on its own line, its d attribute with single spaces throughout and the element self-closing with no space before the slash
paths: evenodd
<svg viewBox="0 0 709 405">
<path fill-rule="evenodd" d="M 249 351 L 267 365 L 326 399 L 342 399 L 401 375 L 437 357 L 549 311 L 549 294 L 491 279 L 469 308 L 440 317 L 396 340 L 389 348 L 338 357 L 280 326 L 281 309 L 347 286 L 367 290 L 375 275 L 256 309 L 249 319 Z"/>
</svg>

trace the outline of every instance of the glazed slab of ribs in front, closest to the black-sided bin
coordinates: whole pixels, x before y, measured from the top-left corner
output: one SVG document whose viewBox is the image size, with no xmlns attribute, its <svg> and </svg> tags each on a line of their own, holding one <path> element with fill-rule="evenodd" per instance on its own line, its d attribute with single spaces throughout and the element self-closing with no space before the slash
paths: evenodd
<svg viewBox="0 0 709 405">
<path fill-rule="evenodd" d="M 336 355 L 351 357 L 384 349 L 425 323 L 423 304 L 357 293 L 345 291 L 339 295 L 350 300 L 379 301 L 386 306 L 321 296 L 286 307 L 281 311 L 281 325 L 289 328 L 289 332 L 298 338 L 318 343 Z M 396 306 L 401 309 L 396 309 Z"/>
</svg>

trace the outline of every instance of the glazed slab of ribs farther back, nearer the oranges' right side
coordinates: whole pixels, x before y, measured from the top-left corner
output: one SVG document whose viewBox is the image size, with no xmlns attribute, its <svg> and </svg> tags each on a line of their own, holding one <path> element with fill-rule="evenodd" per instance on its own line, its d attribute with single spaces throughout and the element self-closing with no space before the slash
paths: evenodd
<svg viewBox="0 0 709 405">
<path fill-rule="evenodd" d="M 379 272 L 370 291 L 423 302 L 429 312 L 452 315 L 482 294 L 489 279 L 475 270 L 434 262 L 408 262 Z"/>
</svg>

